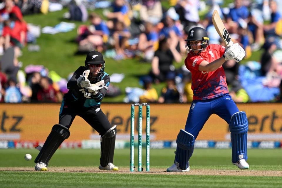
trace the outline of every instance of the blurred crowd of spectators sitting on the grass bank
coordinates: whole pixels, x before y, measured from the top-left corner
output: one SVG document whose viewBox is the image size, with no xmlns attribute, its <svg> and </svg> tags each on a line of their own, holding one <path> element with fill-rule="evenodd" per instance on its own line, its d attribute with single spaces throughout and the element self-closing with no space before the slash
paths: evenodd
<svg viewBox="0 0 282 188">
<path fill-rule="evenodd" d="M 5 0 L 2 3 L 2 102 L 60 102 L 67 92 L 64 85 L 67 80 L 54 71 L 38 66 L 22 71 L 17 60 L 21 49 L 34 38 L 23 14 L 46 14 L 49 2 L 52 1 Z M 241 103 L 282 101 L 282 4 L 278 0 L 234 0 L 224 8 L 223 0 L 169 0 L 168 9 L 160 0 L 54 2 L 68 6 L 69 12 L 64 18 L 90 22 L 77 29 L 78 53 L 97 50 L 116 61 L 139 58 L 151 63 L 150 72 L 140 78 L 143 88 L 127 88 L 124 102 L 192 101 L 191 73 L 185 66 L 175 68 L 174 62 L 183 63 L 187 56 L 184 40 L 192 27 L 205 28 L 210 43 L 224 45 L 212 24 L 214 10 L 219 12 L 234 43 L 246 51 L 246 64 L 227 61 L 223 65 L 233 100 Z M 86 7 L 91 10 L 87 11 Z M 95 11 L 98 8 L 103 9 L 102 14 Z M 199 12 L 205 12 L 202 19 Z M 260 61 L 248 61 L 254 54 L 260 56 Z M 162 82 L 166 86 L 157 92 L 153 85 Z M 112 85 L 109 95 L 115 96 L 116 89 Z M 157 93 L 161 93 L 160 96 Z"/>
</svg>

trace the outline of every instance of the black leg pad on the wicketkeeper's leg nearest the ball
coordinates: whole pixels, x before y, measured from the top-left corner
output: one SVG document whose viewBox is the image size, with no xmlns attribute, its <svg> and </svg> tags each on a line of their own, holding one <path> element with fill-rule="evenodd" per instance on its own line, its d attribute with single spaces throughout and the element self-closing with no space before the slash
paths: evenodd
<svg viewBox="0 0 282 188">
<path fill-rule="evenodd" d="M 60 124 L 54 125 L 34 162 L 43 162 L 48 165 L 49 160 L 56 152 L 58 147 L 69 136 L 70 131 L 67 127 Z"/>
</svg>

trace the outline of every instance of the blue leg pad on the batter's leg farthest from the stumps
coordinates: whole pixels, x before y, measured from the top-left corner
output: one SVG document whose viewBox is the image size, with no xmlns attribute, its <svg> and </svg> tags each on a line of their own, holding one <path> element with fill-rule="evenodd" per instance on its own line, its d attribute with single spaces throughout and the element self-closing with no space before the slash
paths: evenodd
<svg viewBox="0 0 282 188">
<path fill-rule="evenodd" d="M 231 116 L 229 124 L 231 132 L 232 162 L 247 160 L 248 119 L 245 112 L 237 112 Z"/>
</svg>

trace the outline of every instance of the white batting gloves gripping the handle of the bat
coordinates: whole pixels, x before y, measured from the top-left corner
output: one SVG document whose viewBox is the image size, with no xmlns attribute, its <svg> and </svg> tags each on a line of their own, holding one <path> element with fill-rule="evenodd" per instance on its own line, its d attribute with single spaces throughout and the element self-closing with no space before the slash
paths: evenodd
<svg viewBox="0 0 282 188">
<path fill-rule="evenodd" d="M 238 43 L 235 43 L 226 49 L 223 57 L 226 61 L 235 59 L 235 61 L 238 63 L 245 57 L 245 55 L 246 52 L 244 51 L 244 49 Z"/>
</svg>

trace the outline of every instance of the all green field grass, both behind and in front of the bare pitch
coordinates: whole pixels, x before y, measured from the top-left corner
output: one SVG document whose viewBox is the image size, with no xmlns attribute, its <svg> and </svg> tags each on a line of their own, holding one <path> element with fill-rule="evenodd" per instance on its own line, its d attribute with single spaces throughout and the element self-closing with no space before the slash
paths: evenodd
<svg viewBox="0 0 282 188">
<path fill-rule="evenodd" d="M 32 160 L 25 161 L 24 155 L 30 153 Z M 187 175 L 186 173 L 164 173 L 174 160 L 174 149 L 151 149 L 150 167 L 161 173 L 128 173 L 129 149 L 115 150 L 114 164 L 128 169 L 125 173 L 105 172 L 33 172 L 35 149 L 0 150 L 0 187 L 282 187 L 281 176 L 239 176 L 241 172 L 260 172 L 261 170 L 281 171 L 281 149 L 249 149 L 250 169 L 239 170 L 231 164 L 230 149 L 195 149 L 190 160 L 190 172 L 196 170 L 232 170 L 237 175 Z M 48 167 L 93 167 L 98 169 L 100 150 L 60 149 Z M 143 161 L 145 150 L 143 150 Z M 137 164 L 137 150 L 135 150 Z M 16 167 L 19 167 L 17 169 Z M 26 170 L 21 170 L 25 167 Z M 55 168 L 56 169 L 56 168 Z M 127 171 L 127 170 L 125 170 Z"/>
</svg>

